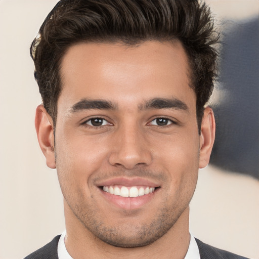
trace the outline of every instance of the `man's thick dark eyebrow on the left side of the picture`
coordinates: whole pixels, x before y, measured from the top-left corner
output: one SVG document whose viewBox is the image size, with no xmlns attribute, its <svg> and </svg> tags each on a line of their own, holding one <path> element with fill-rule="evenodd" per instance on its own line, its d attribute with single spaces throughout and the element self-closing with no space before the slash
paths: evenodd
<svg viewBox="0 0 259 259">
<path fill-rule="evenodd" d="M 79 102 L 75 103 L 70 110 L 71 112 L 78 112 L 81 110 L 91 110 L 91 109 L 115 110 L 117 109 L 117 105 L 113 102 L 106 101 L 106 100 L 82 99 Z"/>
</svg>

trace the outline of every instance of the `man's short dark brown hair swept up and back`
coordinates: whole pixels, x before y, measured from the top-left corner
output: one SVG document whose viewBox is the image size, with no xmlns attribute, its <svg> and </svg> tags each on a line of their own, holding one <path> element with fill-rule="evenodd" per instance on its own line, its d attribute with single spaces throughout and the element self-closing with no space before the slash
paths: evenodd
<svg viewBox="0 0 259 259">
<path fill-rule="evenodd" d="M 198 0 L 61 0 L 49 13 L 31 44 L 35 79 L 54 126 L 61 92 L 60 63 L 77 42 L 145 40 L 182 42 L 196 93 L 198 127 L 217 75 L 218 42 L 210 9 Z"/>
</svg>

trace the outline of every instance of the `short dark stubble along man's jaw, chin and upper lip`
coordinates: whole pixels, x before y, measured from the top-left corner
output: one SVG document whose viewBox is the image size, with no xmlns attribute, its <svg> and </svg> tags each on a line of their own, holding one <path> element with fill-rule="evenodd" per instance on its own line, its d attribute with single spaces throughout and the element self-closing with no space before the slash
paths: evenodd
<svg viewBox="0 0 259 259">
<path fill-rule="evenodd" d="M 150 176 L 150 174 L 150 171 L 142 171 L 142 173 L 138 172 L 136 175 Z M 120 172 L 118 172 L 118 176 L 119 175 L 121 175 Z M 164 177 L 165 174 L 162 172 L 160 174 L 156 172 L 153 175 L 159 176 L 159 178 L 163 179 L 163 182 L 168 183 L 168 179 Z M 64 187 L 65 185 L 62 184 L 62 180 L 64 180 L 63 177 L 59 178 L 60 186 Z M 178 198 L 174 197 L 175 201 L 170 200 L 168 196 L 164 197 L 159 207 L 154 208 L 156 209 L 156 213 L 153 214 L 151 220 L 148 220 L 149 222 L 145 221 L 145 218 L 148 218 L 146 214 L 142 215 L 143 217 L 141 219 L 140 215 L 139 218 L 136 217 L 136 213 L 138 212 L 134 210 L 124 210 L 124 213 L 122 212 L 121 217 L 118 218 L 118 224 L 113 225 L 103 220 L 105 215 L 100 214 L 101 212 L 98 206 L 95 205 L 97 201 L 94 201 L 93 196 L 91 196 L 91 198 L 89 197 L 89 199 L 92 199 L 92 201 L 89 202 L 89 199 L 84 197 L 82 190 L 77 189 L 77 191 L 75 191 L 77 193 L 71 195 L 71 189 L 73 189 L 71 186 L 66 186 L 62 190 L 63 196 L 71 212 L 87 230 L 86 233 L 88 233 L 88 235 L 91 233 L 93 237 L 99 241 L 101 240 L 115 247 L 134 248 L 150 245 L 161 238 L 170 229 L 174 228 L 174 225 L 182 213 L 189 206 L 195 187 L 192 193 L 178 190 L 182 194 Z M 185 195 L 188 197 L 184 197 Z M 77 198 L 75 199 L 75 197 Z M 143 211 L 141 213 L 143 213 Z M 149 212 L 146 211 L 146 213 Z M 141 220 L 138 221 L 136 219 Z M 119 223 L 119 221 L 121 221 L 121 223 Z"/>
</svg>

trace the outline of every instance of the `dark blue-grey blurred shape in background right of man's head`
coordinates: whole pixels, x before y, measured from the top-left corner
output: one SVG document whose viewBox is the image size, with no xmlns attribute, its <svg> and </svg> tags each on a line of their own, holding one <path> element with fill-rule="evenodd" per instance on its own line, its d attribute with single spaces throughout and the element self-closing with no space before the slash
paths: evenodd
<svg viewBox="0 0 259 259">
<path fill-rule="evenodd" d="M 227 27 L 211 164 L 259 179 L 259 20 Z"/>
</svg>

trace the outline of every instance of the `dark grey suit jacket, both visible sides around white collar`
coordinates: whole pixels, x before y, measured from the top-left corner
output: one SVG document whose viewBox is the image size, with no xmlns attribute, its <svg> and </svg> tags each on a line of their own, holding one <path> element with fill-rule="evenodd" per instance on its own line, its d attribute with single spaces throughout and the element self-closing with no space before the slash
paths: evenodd
<svg viewBox="0 0 259 259">
<path fill-rule="evenodd" d="M 58 259 L 59 238 L 60 235 L 56 236 L 50 243 L 39 248 L 37 251 L 26 256 L 24 259 Z M 199 247 L 201 259 L 248 259 L 246 257 L 204 244 L 199 239 L 196 239 L 196 242 Z"/>
</svg>

